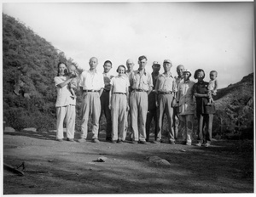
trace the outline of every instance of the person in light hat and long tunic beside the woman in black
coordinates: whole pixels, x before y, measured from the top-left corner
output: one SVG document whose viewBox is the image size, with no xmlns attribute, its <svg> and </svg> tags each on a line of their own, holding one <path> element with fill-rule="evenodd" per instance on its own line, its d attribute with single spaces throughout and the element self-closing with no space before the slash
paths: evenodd
<svg viewBox="0 0 256 197">
<path fill-rule="evenodd" d="M 180 128 L 183 134 L 183 144 L 192 144 L 192 132 L 195 115 L 195 99 L 193 86 L 195 82 L 189 80 L 191 72 L 183 70 L 183 82 L 177 87 L 177 104 L 179 109 Z"/>
</svg>

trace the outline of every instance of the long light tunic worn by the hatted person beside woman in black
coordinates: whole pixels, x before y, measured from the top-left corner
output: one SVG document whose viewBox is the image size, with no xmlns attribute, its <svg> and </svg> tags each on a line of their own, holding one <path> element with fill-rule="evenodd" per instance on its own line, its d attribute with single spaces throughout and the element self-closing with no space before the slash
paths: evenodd
<svg viewBox="0 0 256 197">
<path fill-rule="evenodd" d="M 177 87 L 177 101 L 180 115 L 190 115 L 195 113 L 195 103 L 193 99 L 193 87 L 195 82 L 180 82 Z"/>
</svg>

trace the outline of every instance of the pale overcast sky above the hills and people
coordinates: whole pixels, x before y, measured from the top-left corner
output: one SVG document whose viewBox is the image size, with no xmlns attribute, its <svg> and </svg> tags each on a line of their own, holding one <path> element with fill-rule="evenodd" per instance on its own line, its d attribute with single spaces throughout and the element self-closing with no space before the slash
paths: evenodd
<svg viewBox="0 0 256 197">
<path fill-rule="evenodd" d="M 80 67 L 148 57 L 172 60 L 193 73 L 218 71 L 219 87 L 253 72 L 253 2 L 244 3 L 3 3 L 3 13 L 29 26 Z M 56 65 L 54 65 L 56 66 Z M 161 68 L 160 72 L 163 72 Z M 194 80 L 194 78 L 192 78 Z"/>
</svg>

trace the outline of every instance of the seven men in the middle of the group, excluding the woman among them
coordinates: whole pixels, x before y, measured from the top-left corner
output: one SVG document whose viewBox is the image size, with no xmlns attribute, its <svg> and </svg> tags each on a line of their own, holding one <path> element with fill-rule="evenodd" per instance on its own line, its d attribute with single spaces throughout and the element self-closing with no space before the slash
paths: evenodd
<svg viewBox="0 0 256 197">
<path fill-rule="evenodd" d="M 164 73 L 160 74 L 160 63 L 153 62 L 152 73 L 145 69 L 147 57 L 138 58 L 138 69 L 134 70 L 134 61 L 127 59 L 125 76 L 129 80 L 128 104 L 130 110 L 125 115 L 125 131 L 123 138 L 118 143 L 123 143 L 126 139 L 131 140 L 132 144 L 147 144 L 149 142 L 150 126 L 154 119 L 154 140 L 155 144 L 162 142 L 164 115 L 168 121 L 168 141 L 175 144 L 178 134 L 179 117 L 177 107 L 172 105 L 176 98 L 177 85 L 183 79 L 183 65 L 177 66 L 177 76 L 172 76 L 172 61 L 163 61 Z M 92 117 L 92 142 L 99 143 L 98 131 L 99 121 L 105 115 L 107 121 L 106 140 L 116 143 L 112 138 L 111 109 L 109 109 L 110 82 L 113 78 L 109 74 L 112 69 L 112 62 L 105 61 L 103 73 L 96 70 L 98 59 L 90 59 L 90 70 L 84 70 L 81 74 L 79 87 L 83 95 L 82 105 L 82 125 L 81 138 L 79 142 L 85 142 L 88 132 L 88 120 Z M 128 132 L 130 130 L 130 132 Z M 127 133 L 130 135 L 127 136 Z"/>
</svg>

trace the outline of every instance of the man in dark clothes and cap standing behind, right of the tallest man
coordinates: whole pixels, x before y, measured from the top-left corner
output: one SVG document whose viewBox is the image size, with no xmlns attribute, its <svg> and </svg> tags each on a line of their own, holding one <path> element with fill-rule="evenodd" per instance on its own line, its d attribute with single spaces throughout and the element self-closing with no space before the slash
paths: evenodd
<svg viewBox="0 0 256 197">
<path fill-rule="evenodd" d="M 159 70 L 160 70 L 160 63 L 157 61 L 153 62 L 152 65 L 153 72 L 151 73 L 152 80 L 153 80 L 153 86 L 155 87 L 156 79 L 159 76 Z M 156 140 L 157 135 L 157 111 L 155 106 L 155 89 L 153 87 L 153 90 L 151 93 L 148 94 L 148 113 L 147 113 L 147 121 L 146 121 L 146 141 L 149 141 L 149 133 L 150 133 L 150 125 L 151 121 L 154 118 L 154 139 Z"/>
</svg>

